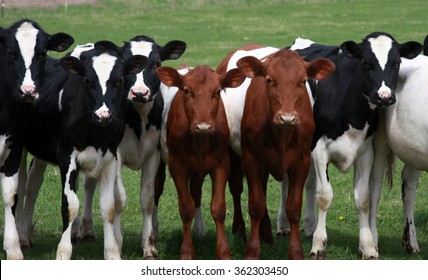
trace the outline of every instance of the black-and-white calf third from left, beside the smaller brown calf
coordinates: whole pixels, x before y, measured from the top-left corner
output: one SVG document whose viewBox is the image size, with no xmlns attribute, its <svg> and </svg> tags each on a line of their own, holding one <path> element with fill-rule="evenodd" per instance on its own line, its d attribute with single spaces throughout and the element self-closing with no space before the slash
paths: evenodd
<svg viewBox="0 0 428 280">
<path fill-rule="evenodd" d="M 126 129 L 119 145 L 119 166 L 116 184 L 120 191 L 119 197 L 124 205 L 125 188 L 122 182 L 122 166 L 133 170 L 141 170 L 140 205 L 143 212 L 143 229 L 141 248 L 144 258 L 158 256 L 153 228 L 153 220 L 157 221 L 157 209 L 154 206 L 155 179 L 160 164 L 160 128 L 164 101 L 159 91 L 160 80 L 156 69 L 165 60 L 178 59 L 184 53 L 186 43 L 178 40 L 169 41 L 164 46 L 158 45 L 152 38 L 136 36 L 122 47 L 125 59 L 132 55 L 144 55 L 148 58 L 147 66 L 138 74 L 125 77 L 127 91 Z M 85 204 L 82 214 L 83 237 L 93 235 L 92 229 L 92 197 L 95 183 L 85 184 Z M 117 221 L 119 231 L 120 220 Z"/>
</svg>

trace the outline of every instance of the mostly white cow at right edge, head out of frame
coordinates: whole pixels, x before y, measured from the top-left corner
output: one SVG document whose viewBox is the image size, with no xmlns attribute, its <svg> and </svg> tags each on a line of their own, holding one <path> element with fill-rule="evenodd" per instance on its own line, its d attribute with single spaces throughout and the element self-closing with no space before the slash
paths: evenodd
<svg viewBox="0 0 428 280">
<path fill-rule="evenodd" d="M 397 102 L 381 111 L 374 137 L 375 158 L 370 177 L 370 228 L 378 244 L 376 213 L 380 200 L 385 165 L 389 153 L 397 155 L 405 166 L 401 173 L 404 204 L 403 244 L 408 253 L 418 253 L 413 207 L 421 171 L 428 171 L 428 36 L 424 55 L 403 59 L 398 73 Z M 425 86 L 424 86 L 425 85 Z M 389 173 L 390 174 L 390 173 Z"/>
</svg>

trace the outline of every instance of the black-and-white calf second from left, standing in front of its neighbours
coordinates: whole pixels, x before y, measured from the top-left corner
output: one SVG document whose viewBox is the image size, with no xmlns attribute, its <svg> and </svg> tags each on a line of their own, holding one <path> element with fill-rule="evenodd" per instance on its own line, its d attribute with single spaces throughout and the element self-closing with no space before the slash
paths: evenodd
<svg viewBox="0 0 428 280">
<path fill-rule="evenodd" d="M 32 114 L 33 124 L 26 130 L 28 151 L 39 159 L 58 164 L 61 173 L 63 234 L 57 259 L 70 259 L 72 254 L 71 227 L 79 210 L 76 195 L 79 171 L 99 183 L 104 257 L 120 259 L 121 240 L 115 240 L 113 223 L 117 149 L 125 130 L 123 81 L 125 75 L 140 72 L 147 58 L 133 56 L 124 61 L 120 48 L 108 41 L 98 42 L 94 47 L 85 61 L 72 56 L 60 60 L 69 77 L 64 81 L 52 76 L 45 92 L 47 100 L 38 104 Z M 57 72 L 64 75 L 60 69 Z M 50 117 L 55 119 L 49 126 L 37 122 Z"/>
</svg>

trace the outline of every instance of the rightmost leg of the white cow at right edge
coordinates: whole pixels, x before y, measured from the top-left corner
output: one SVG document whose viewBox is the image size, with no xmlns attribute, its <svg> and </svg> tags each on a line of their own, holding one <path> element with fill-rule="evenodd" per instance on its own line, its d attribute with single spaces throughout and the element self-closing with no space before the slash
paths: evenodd
<svg viewBox="0 0 428 280">
<path fill-rule="evenodd" d="M 404 208 L 403 245 L 409 254 L 419 253 L 414 219 L 416 188 L 421 172 L 405 165 L 401 172 L 402 199 Z"/>
</svg>

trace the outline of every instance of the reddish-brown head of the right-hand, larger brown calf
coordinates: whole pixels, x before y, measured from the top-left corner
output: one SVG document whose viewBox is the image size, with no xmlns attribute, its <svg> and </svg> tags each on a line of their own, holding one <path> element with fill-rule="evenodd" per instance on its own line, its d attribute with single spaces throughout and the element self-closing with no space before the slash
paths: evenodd
<svg viewBox="0 0 428 280">
<path fill-rule="evenodd" d="M 334 63 L 327 59 L 308 63 L 296 52 L 287 49 L 272 54 L 264 61 L 252 56 L 243 57 L 236 65 L 248 78 L 263 79 L 272 123 L 281 127 L 298 123 L 304 99 L 308 99 L 306 104 L 309 104 L 307 79 L 323 80 L 335 69 Z"/>
</svg>

